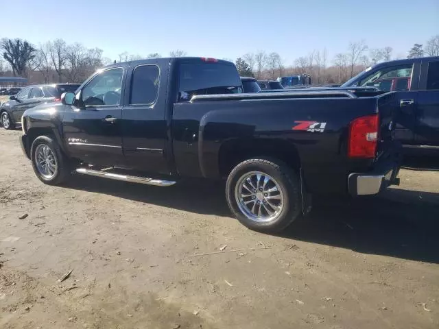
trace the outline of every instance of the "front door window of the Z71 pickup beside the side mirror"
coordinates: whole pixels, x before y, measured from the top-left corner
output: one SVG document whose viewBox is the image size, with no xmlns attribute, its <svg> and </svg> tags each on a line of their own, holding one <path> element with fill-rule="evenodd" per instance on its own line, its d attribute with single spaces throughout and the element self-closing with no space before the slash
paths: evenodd
<svg viewBox="0 0 439 329">
<path fill-rule="evenodd" d="M 98 73 L 82 89 L 85 106 L 119 105 L 121 101 L 123 69 L 109 69 Z"/>
</svg>

